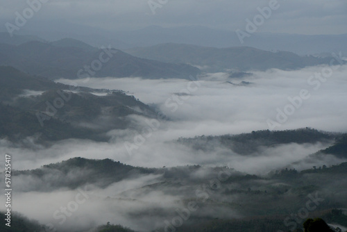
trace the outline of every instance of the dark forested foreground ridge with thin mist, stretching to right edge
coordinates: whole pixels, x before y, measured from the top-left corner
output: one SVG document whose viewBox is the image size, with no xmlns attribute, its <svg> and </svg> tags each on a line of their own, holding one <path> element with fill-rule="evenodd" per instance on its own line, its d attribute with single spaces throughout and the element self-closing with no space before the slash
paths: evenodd
<svg viewBox="0 0 347 232">
<path fill-rule="evenodd" d="M 116 206 L 115 203 L 141 202 L 142 206 L 139 208 L 133 206 L 126 211 L 128 219 L 134 220 L 146 217 L 158 217 L 160 221 L 171 219 L 176 217 L 176 208 L 183 210 L 183 207 L 189 206 L 189 202 L 194 201 L 198 210 L 192 211 L 189 223 L 177 231 L 201 231 L 201 228 L 211 232 L 230 229 L 250 232 L 287 231 L 288 226 L 283 224 L 283 220 L 289 213 L 301 210 L 309 199 L 316 199 L 311 204 L 310 214 L 322 217 L 332 224 L 338 222 L 346 225 L 346 215 L 342 210 L 332 210 L 346 208 L 347 205 L 344 197 L 346 165 L 347 163 L 341 163 L 301 172 L 282 169 L 269 175 L 255 176 L 235 172 L 228 167 L 194 165 L 149 169 L 110 159 L 90 160 L 77 157 L 38 169 L 13 170 L 12 179 L 15 180 L 14 183 L 18 183 L 17 186 L 14 184 L 17 192 L 29 194 L 61 188 L 77 191 L 78 188 L 89 186 L 85 191 L 95 201 L 99 200 L 100 207 L 105 207 L 102 202 L 111 207 Z M 149 183 L 143 181 L 144 176 L 155 176 L 155 179 Z M 48 181 L 52 179 L 54 181 Z M 126 180 L 138 184 L 124 185 Z M 23 181 L 26 184 L 19 185 Z M 115 188 L 117 185 L 121 188 Z M 105 192 L 101 194 L 103 190 Z M 158 199 L 153 199 L 153 195 Z M 176 205 L 167 208 L 163 204 L 153 204 L 167 201 L 167 198 L 160 198 L 161 196 L 169 199 L 175 197 L 178 199 Z M 112 209 L 117 212 L 117 208 Z M 288 217 L 286 220 L 292 222 L 294 219 L 295 217 Z"/>
</svg>

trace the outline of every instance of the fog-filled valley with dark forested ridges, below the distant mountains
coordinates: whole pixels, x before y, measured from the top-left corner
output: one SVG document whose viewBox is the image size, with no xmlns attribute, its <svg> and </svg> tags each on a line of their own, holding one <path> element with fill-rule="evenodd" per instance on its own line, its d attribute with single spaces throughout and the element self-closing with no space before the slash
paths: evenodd
<svg viewBox="0 0 347 232">
<path fill-rule="evenodd" d="M 291 229 L 300 226 L 288 215 L 314 196 L 321 201 L 310 213 L 341 226 L 346 216 L 330 210 L 346 207 L 346 66 L 307 82 L 324 68 L 53 82 L 3 67 L 10 91 L 1 108 L 13 116 L 2 117 L 1 152 L 16 170 L 16 213 L 46 231 L 106 222 L 244 231 L 249 218 L 248 231 L 264 220 L 266 230 Z M 298 98 L 303 89 L 309 98 Z M 295 112 L 278 122 L 289 104 Z M 16 131 L 21 120 L 26 133 Z"/>
</svg>

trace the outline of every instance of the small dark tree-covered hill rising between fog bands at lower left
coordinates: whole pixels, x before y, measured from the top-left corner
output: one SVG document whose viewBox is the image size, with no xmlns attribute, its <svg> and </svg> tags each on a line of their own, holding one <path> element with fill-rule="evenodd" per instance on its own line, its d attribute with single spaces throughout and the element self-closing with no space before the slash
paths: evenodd
<svg viewBox="0 0 347 232">
<path fill-rule="evenodd" d="M 67 176 L 74 174 L 74 178 L 69 179 Z M 90 160 L 76 157 L 61 163 L 52 163 L 44 165 L 39 169 L 15 171 L 15 176 L 33 176 L 37 181 L 44 181 L 52 173 L 56 173 L 55 183 L 50 186 L 42 185 L 40 191 L 49 191 L 67 187 L 76 189 L 86 184 L 94 184 L 100 188 L 105 188 L 112 183 L 128 179 L 130 177 L 140 176 L 142 174 L 159 173 L 157 169 L 147 169 L 144 167 L 133 167 L 114 160 Z M 78 174 L 79 173 L 79 174 Z M 86 178 L 87 177 L 87 178 Z M 102 179 L 102 181 L 100 181 Z"/>
</svg>

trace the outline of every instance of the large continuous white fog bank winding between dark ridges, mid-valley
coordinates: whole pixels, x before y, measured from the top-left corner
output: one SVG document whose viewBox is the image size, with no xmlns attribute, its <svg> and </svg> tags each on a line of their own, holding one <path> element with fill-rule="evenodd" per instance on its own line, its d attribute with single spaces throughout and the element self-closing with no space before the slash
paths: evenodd
<svg viewBox="0 0 347 232">
<path fill-rule="evenodd" d="M 192 151 L 178 138 L 196 135 L 250 133 L 269 128 L 268 119 L 276 122 L 279 108 L 291 104 L 288 97 L 297 98 L 306 89 L 310 97 L 301 99 L 302 106 L 287 115 L 287 122 L 276 124 L 274 130 L 311 127 L 323 131 L 347 131 L 347 66 L 337 67 L 326 81 L 310 85 L 307 80 L 323 67 L 296 71 L 271 69 L 254 72 L 253 76 L 231 79 L 228 74 L 205 74 L 198 81 L 144 80 L 142 78 L 90 78 L 76 83 L 90 88 L 124 90 L 144 103 L 155 106 L 158 121 L 130 115 L 137 130 L 111 130 L 110 142 L 62 140 L 43 148 L 35 138 L 27 138 L 26 147 L 0 140 L 0 152 L 12 154 L 15 169 L 34 169 L 73 157 L 112 158 L 121 163 L 142 167 L 174 167 L 176 165 L 225 165 L 242 172 L 262 173 L 269 167 L 279 168 L 297 162 L 330 144 L 287 144 L 262 151 L 254 158 L 244 158 L 222 147 L 211 153 Z M 248 81 L 238 86 L 226 83 Z M 61 83 L 74 81 L 60 80 Z M 316 88 L 316 90 L 314 90 Z M 181 93 L 181 94 L 178 94 Z M 182 94 L 185 93 L 185 94 Z M 164 115 L 164 116 L 163 116 Z M 160 119 L 163 118 L 164 120 Z M 138 138 L 143 140 L 139 141 Z M 279 154 L 279 155 L 278 155 Z M 264 162 L 260 157 L 264 156 Z M 276 159 L 276 156 L 280 157 Z M 253 157 L 253 156 L 252 156 Z M 267 158 L 276 163 L 269 165 Z M 288 158 L 288 159 L 286 159 Z M 278 160 L 278 161 L 276 161 Z M 257 168 L 250 163 L 256 163 Z M 330 159 L 330 164 L 335 160 Z M 272 163 L 271 163 L 272 164 Z"/>
</svg>

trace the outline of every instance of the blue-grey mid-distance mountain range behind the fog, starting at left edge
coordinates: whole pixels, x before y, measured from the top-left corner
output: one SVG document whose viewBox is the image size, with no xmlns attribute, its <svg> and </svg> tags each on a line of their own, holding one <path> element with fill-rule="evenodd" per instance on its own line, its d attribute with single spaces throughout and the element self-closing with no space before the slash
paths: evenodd
<svg viewBox="0 0 347 232">
<path fill-rule="evenodd" d="M 0 34 L 0 42 L 6 42 L 4 37 L 6 35 Z M 263 51 L 252 47 L 219 49 L 167 43 L 127 49 L 125 53 L 118 49 L 97 49 L 80 40 L 69 38 L 44 42 L 17 35 L 16 40 L 24 43 L 0 44 L 0 65 L 9 65 L 50 79 L 87 76 L 188 79 L 189 76 L 201 73 L 201 70 L 228 72 L 230 69 L 300 69 L 328 64 L 331 59 L 298 56 L 287 51 Z M 112 57 L 108 58 L 108 54 Z M 100 59 L 106 62 L 101 62 Z"/>
</svg>

